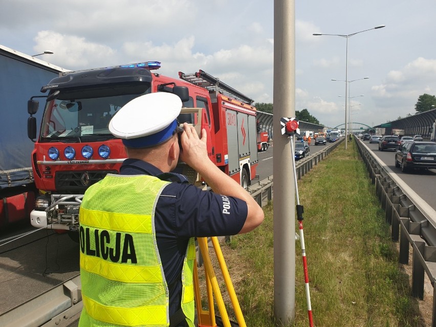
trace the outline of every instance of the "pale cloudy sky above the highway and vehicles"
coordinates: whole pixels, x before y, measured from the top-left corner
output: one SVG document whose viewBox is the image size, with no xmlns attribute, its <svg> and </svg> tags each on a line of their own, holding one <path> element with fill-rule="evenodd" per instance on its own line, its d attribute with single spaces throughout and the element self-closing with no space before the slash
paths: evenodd
<svg viewBox="0 0 436 327">
<path fill-rule="evenodd" d="M 253 98 L 273 102 L 273 1 L 6 0 L 0 44 L 78 70 L 145 60 L 161 74 L 202 69 Z M 295 2 L 296 103 L 321 123 L 344 122 L 346 39 L 353 121 L 377 125 L 436 95 L 436 2 Z M 364 95 L 360 97 L 360 95 Z M 341 97 L 339 97 L 341 96 Z M 360 105 L 359 105 L 360 104 Z"/>
</svg>

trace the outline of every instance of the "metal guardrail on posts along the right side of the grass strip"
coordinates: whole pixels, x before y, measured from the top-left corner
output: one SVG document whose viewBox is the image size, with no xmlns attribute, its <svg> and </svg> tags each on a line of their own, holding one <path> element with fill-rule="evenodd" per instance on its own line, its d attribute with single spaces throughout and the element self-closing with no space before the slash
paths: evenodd
<svg viewBox="0 0 436 327">
<path fill-rule="evenodd" d="M 385 211 L 385 220 L 391 225 L 391 240 L 399 242 L 399 263 L 409 264 L 412 248 L 411 295 L 424 299 L 424 274 L 433 287 L 431 326 L 436 327 L 436 212 L 413 198 L 413 194 L 401 188 L 402 181 L 389 175 L 382 163 L 359 140 L 360 155 L 369 171 L 376 193 Z"/>
</svg>

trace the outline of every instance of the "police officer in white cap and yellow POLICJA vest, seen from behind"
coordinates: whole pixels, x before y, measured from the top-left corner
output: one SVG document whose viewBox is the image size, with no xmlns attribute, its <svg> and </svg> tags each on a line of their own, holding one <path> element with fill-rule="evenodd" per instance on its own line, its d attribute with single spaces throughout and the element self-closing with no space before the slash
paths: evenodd
<svg viewBox="0 0 436 327">
<path fill-rule="evenodd" d="M 178 133 L 181 107 L 176 95 L 151 93 L 110 122 L 128 159 L 82 200 L 79 326 L 193 327 L 193 237 L 246 233 L 264 220 L 250 194 L 209 160 L 206 130 L 199 137 L 185 123 Z M 171 173 L 179 158 L 213 192 Z"/>
</svg>

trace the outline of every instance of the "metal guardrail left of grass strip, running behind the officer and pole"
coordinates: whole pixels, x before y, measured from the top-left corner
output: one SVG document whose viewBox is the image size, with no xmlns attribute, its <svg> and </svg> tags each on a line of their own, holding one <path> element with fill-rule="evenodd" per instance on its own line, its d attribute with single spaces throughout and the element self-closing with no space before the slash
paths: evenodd
<svg viewBox="0 0 436 327">
<path fill-rule="evenodd" d="M 298 179 L 327 157 L 343 140 L 342 138 L 299 160 L 295 167 Z M 264 207 L 273 198 L 273 175 L 250 185 L 247 190 Z M 0 315 L 0 326 L 66 327 L 83 308 L 80 290 L 80 275 L 77 275 Z"/>
</svg>

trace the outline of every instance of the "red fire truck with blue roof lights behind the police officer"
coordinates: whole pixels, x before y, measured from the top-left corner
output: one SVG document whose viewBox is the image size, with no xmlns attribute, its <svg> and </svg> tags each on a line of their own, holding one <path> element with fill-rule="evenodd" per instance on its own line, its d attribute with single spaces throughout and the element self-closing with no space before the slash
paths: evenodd
<svg viewBox="0 0 436 327">
<path fill-rule="evenodd" d="M 242 186 L 256 175 L 256 109 L 253 100 L 200 70 L 179 78 L 152 72 L 160 62 L 59 73 L 42 86 L 49 92 L 32 152 L 36 187 L 46 192 L 30 214 L 34 227 L 70 231 L 77 239 L 82 194 L 107 173 L 119 173 L 124 146 L 108 123 L 128 101 L 152 92 L 178 95 L 180 123 L 207 133 L 209 159 Z M 38 101 L 28 101 L 28 136 L 34 140 Z M 180 169 L 186 167 L 181 164 Z M 184 170 L 188 171 L 188 170 Z M 180 171 L 183 172 L 184 171 Z M 191 177 L 201 183 L 201 178 Z"/>
</svg>

